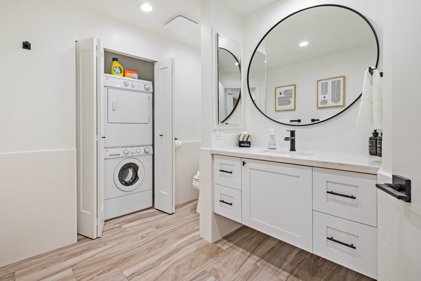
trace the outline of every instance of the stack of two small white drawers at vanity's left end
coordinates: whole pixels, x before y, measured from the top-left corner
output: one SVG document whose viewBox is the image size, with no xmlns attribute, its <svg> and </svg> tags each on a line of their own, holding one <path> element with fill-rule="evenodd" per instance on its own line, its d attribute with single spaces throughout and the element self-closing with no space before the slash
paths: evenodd
<svg viewBox="0 0 421 281">
<path fill-rule="evenodd" d="M 241 223 L 241 159 L 215 155 L 213 181 L 215 213 Z"/>
</svg>

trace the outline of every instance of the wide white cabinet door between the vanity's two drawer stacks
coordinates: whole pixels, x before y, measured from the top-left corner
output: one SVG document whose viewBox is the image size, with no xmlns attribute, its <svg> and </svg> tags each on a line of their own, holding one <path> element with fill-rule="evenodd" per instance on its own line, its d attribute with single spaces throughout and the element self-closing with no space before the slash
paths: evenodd
<svg viewBox="0 0 421 281">
<path fill-rule="evenodd" d="M 312 167 L 242 161 L 242 223 L 312 251 Z"/>
</svg>

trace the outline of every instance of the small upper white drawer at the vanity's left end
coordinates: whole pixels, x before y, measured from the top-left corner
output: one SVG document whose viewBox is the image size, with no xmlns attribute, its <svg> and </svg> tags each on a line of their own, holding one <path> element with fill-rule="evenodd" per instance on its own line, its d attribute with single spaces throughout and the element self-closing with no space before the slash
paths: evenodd
<svg viewBox="0 0 421 281">
<path fill-rule="evenodd" d="M 213 179 L 216 184 L 241 190 L 241 159 L 215 155 L 213 159 Z"/>
</svg>

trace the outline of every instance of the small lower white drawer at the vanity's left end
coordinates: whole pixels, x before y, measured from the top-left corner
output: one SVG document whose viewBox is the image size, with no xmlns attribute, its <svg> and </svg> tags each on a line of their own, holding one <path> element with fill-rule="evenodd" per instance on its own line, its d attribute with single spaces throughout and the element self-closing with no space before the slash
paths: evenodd
<svg viewBox="0 0 421 281">
<path fill-rule="evenodd" d="M 215 184 L 215 213 L 241 223 L 241 190 Z"/>
</svg>

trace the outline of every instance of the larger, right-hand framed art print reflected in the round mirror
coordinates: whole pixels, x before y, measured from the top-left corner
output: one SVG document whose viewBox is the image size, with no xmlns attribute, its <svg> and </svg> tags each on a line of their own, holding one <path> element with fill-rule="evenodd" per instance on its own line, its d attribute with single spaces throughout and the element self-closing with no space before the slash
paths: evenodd
<svg viewBox="0 0 421 281">
<path fill-rule="evenodd" d="M 345 76 L 317 80 L 317 108 L 345 106 Z"/>
</svg>

